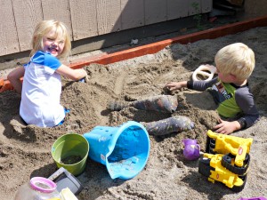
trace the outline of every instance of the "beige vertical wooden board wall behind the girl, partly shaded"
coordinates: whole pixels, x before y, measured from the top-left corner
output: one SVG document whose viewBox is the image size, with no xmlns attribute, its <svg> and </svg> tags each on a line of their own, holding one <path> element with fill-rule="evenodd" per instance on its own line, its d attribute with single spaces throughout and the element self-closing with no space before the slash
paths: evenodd
<svg viewBox="0 0 267 200">
<path fill-rule="evenodd" d="M 77 41 L 211 10 L 212 0 L 0 0 L 0 56 L 28 51 L 40 20 L 63 21 Z"/>
</svg>

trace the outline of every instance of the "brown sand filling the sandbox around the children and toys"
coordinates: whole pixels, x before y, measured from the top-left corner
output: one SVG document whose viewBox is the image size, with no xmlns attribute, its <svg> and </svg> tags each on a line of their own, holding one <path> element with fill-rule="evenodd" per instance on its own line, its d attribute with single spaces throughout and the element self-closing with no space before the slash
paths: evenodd
<svg viewBox="0 0 267 200">
<path fill-rule="evenodd" d="M 150 157 L 145 168 L 132 180 L 112 180 L 106 166 L 88 159 L 85 172 L 77 177 L 84 185 L 79 199 L 223 199 L 267 196 L 267 28 L 254 28 L 233 36 L 202 40 L 193 44 L 173 44 L 166 49 L 108 66 L 86 67 L 89 83 L 64 81 L 61 103 L 70 108 L 64 124 L 54 128 L 22 127 L 20 96 L 0 93 L 0 196 L 12 199 L 20 185 L 31 177 L 48 177 L 56 171 L 50 153 L 53 142 L 68 132 L 83 134 L 97 125 L 117 126 L 129 120 L 152 122 L 170 116 L 188 116 L 195 128 L 163 136 L 150 135 Z M 251 162 L 245 188 L 235 193 L 219 182 L 212 183 L 198 172 L 198 161 L 182 156 L 182 139 L 198 140 L 203 151 L 206 132 L 217 114 L 206 92 L 175 92 L 179 107 L 174 114 L 124 108 L 106 109 L 109 100 L 142 100 L 163 94 L 162 84 L 190 78 L 199 65 L 214 64 L 214 54 L 223 46 L 242 42 L 255 51 L 255 71 L 249 79 L 261 118 L 247 130 L 232 135 L 253 138 Z"/>
</svg>

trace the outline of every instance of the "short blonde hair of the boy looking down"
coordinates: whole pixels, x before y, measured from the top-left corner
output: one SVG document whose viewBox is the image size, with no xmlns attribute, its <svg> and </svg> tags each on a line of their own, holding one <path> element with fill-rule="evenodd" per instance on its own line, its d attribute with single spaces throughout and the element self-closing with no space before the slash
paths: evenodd
<svg viewBox="0 0 267 200">
<path fill-rule="evenodd" d="M 217 52 L 215 64 L 223 75 L 231 74 L 243 81 L 255 68 L 255 54 L 246 44 L 230 44 Z"/>
</svg>

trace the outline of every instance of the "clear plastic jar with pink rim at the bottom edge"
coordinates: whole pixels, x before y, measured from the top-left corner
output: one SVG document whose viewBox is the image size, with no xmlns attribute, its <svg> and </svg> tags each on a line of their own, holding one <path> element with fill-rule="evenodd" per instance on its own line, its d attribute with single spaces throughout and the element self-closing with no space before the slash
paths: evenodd
<svg viewBox="0 0 267 200">
<path fill-rule="evenodd" d="M 19 188 L 14 200 L 61 200 L 60 193 L 56 187 L 52 180 L 34 177 Z"/>
</svg>

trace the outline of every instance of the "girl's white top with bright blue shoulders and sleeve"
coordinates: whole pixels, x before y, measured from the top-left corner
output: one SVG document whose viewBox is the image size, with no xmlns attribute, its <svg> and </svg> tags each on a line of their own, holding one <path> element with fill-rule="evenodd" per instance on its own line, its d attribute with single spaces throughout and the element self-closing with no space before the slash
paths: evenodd
<svg viewBox="0 0 267 200">
<path fill-rule="evenodd" d="M 36 52 L 24 65 L 20 116 L 27 124 L 53 127 L 64 119 L 61 106 L 61 61 L 50 53 Z"/>
</svg>

